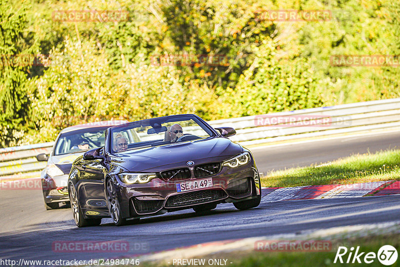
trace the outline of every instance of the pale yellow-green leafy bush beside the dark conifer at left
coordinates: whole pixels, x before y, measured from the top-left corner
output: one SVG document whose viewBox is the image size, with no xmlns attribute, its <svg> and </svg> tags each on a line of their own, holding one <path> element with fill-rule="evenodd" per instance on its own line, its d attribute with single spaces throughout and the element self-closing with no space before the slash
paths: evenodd
<svg viewBox="0 0 400 267">
<path fill-rule="evenodd" d="M 66 37 L 64 48 L 54 48 L 44 61 L 49 68 L 36 80 L 36 93 L 30 95 L 40 129 L 37 138 L 51 140 L 58 130 L 88 121 L 101 112 L 102 98 L 112 95 L 113 76 L 106 56 L 94 45 Z"/>
</svg>

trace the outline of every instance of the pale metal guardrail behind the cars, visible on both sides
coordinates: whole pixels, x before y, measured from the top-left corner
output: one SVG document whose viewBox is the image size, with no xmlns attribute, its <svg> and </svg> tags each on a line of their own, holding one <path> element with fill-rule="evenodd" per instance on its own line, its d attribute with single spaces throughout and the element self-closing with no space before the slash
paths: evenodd
<svg viewBox="0 0 400 267">
<path fill-rule="evenodd" d="M 229 137 L 243 145 L 400 127 L 400 98 L 316 107 L 209 121 L 230 126 Z M 0 180 L 37 177 L 46 162 L 34 157 L 49 153 L 53 142 L 0 148 Z"/>
</svg>

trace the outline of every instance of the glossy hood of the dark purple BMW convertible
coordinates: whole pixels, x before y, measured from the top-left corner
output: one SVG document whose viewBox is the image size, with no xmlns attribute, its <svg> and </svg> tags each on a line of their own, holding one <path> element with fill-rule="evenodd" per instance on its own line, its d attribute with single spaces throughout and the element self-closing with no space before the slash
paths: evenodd
<svg viewBox="0 0 400 267">
<path fill-rule="evenodd" d="M 227 138 L 214 137 L 200 141 L 178 142 L 162 146 L 118 153 L 111 162 L 128 171 L 159 171 L 162 169 L 187 166 L 186 162 L 194 161 L 194 165 L 219 161 L 237 155 L 242 147 Z"/>
</svg>

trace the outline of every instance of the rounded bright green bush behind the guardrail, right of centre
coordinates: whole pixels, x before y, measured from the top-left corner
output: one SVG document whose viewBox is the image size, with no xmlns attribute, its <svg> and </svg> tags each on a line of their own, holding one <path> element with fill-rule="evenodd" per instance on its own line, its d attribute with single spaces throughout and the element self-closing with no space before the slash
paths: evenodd
<svg viewBox="0 0 400 267">
<path fill-rule="evenodd" d="M 323 104 L 317 75 L 308 62 L 301 57 L 276 60 L 275 45 L 264 41 L 256 49 L 253 63 L 240 75 L 235 89 L 228 88 L 223 94 L 224 101 L 237 108 L 223 110 L 230 112 L 222 116 L 265 114 Z"/>
</svg>

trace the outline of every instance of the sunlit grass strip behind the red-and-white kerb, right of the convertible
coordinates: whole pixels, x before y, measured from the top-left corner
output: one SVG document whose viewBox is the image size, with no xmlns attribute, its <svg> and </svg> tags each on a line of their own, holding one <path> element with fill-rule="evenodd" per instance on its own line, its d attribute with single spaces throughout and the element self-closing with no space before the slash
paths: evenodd
<svg viewBox="0 0 400 267">
<path fill-rule="evenodd" d="M 385 180 L 400 180 L 400 149 L 355 154 L 326 164 L 273 171 L 261 177 L 261 185 L 289 187 Z"/>
</svg>

